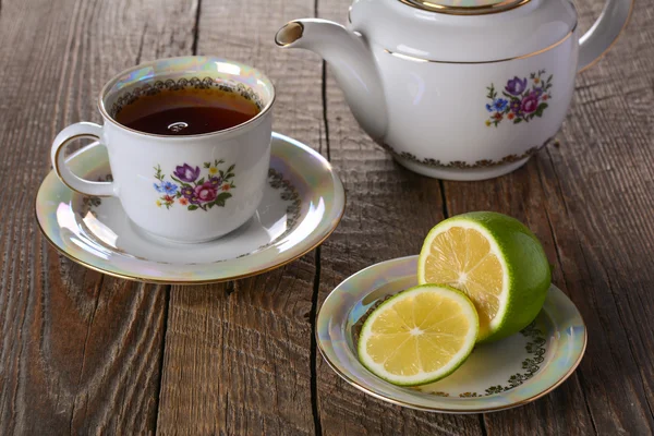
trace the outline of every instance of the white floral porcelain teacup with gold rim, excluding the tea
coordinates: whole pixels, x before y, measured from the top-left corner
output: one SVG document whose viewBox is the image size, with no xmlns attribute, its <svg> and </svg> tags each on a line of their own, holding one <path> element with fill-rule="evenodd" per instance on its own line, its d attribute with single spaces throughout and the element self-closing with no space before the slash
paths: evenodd
<svg viewBox="0 0 654 436">
<path fill-rule="evenodd" d="M 219 87 L 251 99 L 259 112 L 230 129 L 198 135 L 156 135 L 129 129 L 113 118 L 124 105 L 162 88 Z M 52 144 L 52 165 L 70 189 L 117 196 L 128 217 L 153 235 L 177 242 L 219 238 L 250 219 L 264 194 L 270 161 L 275 88 L 258 70 L 213 57 L 182 57 L 134 66 L 102 88 L 104 125 L 80 122 Z M 78 138 L 107 147 L 112 182 L 73 174 L 66 145 Z"/>
</svg>

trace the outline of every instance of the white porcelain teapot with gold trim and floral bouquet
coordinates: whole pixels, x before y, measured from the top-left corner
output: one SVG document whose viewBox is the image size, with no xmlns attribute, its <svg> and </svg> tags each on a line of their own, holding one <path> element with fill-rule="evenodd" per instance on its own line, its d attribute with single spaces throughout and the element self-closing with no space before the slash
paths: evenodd
<svg viewBox="0 0 654 436">
<path fill-rule="evenodd" d="M 552 141 L 577 72 L 631 10 L 632 0 L 608 0 L 580 37 L 570 0 L 354 0 L 347 26 L 295 20 L 275 41 L 323 57 L 356 121 L 400 165 L 484 180 Z"/>
</svg>

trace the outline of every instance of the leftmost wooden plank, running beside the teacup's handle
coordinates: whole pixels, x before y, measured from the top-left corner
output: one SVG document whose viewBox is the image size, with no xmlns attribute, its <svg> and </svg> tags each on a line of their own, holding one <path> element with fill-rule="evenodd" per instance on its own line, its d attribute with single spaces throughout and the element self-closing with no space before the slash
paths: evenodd
<svg viewBox="0 0 654 436">
<path fill-rule="evenodd" d="M 193 20 L 191 2 L 2 1 L 0 434 L 155 428 L 166 290 L 59 256 L 33 202 L 55 134 L 99 121 L 117 71 L 187 51 Z"/>
</svg>

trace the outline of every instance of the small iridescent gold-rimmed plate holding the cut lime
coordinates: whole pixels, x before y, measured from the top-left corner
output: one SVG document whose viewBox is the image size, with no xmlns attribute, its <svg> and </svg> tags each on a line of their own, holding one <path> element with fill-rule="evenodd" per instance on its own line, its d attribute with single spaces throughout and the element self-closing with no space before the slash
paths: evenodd
<svg viewBox="0 0 654 436">
<path fill-rule="evenodd" d="M 387 296 L 417 284 L 417 256 L 362 269 L 323 303 L 316 324 L 318 349 L 352 386 L 407 408 L 443 413 L 486 413 L 534 401 L 559 386 L 581 361 L 586 328 L 566 294 L 549 288 L 543 310 L 519 334 L 476 346 L 448 377 L 416 388 L 391 385 L 358 359 L 356 341 L 366 316 Z"/>
</svg>

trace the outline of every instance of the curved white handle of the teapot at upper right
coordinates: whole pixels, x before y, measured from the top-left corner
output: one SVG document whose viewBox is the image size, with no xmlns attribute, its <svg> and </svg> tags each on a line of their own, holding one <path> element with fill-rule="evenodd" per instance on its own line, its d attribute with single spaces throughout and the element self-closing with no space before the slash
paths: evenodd
<svg viewBox="0 0 654 436">
<path fill-rule="evenodd" d="M 633 10 L 634 0 L 607 0 L 602 14 L 580 39 L 578 72 L 592 66 L 616 43 Z"/>
</svg>

